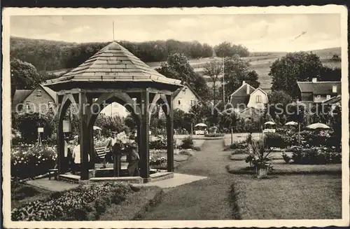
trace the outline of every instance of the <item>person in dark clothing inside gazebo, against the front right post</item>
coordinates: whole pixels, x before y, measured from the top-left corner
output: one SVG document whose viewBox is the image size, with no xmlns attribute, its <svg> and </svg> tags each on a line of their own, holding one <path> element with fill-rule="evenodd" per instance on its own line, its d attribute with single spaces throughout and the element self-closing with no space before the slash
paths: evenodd
<svg viewBox="0 0 350 229">
<path fill-rule="evenodd" d="M 127 173 L 129 176 L 139 176 L 139 160 L 140 156 L 138 151 L 139 146 L 135 141 L 134 135 L 130 135 L 130 146 L 127 151 Z"/>
</svg>

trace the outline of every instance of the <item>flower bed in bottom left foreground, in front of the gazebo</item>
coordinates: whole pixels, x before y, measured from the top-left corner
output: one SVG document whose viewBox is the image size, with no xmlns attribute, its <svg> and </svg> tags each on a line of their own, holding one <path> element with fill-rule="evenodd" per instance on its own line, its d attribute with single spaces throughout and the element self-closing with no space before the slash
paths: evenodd
<svg viewBox="0 0 350 229">
<path fill-rule="evenodd" d="M 137 189 L 132 186 L 114 183 L 80 186 L 13 209 L 11 218 L 13 221 L 97 220 L 109 205 L 123 202 L 125 195 L 134 191 Z"/>
</svg>

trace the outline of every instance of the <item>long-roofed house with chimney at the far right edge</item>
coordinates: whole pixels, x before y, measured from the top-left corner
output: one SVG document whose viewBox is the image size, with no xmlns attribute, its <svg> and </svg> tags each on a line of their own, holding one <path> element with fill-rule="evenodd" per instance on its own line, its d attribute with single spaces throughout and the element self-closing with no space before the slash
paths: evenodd
<svg viewBox="0 0 350 229">
<path fill-rule="evenodd" d="M 300 90 L 300 102 L 304 104 L 321 103 L 330 101 L 333 97 L 342 95 L 342 82 L 340 81 L 317 81 L 312 78 L 311 82 L 297 82 Z"/>
</svg>

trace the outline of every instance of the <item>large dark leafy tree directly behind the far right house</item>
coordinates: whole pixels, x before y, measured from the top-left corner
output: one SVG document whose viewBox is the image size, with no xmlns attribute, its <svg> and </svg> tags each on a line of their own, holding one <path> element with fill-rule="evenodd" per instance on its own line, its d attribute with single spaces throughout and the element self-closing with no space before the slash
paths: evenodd
<svg viewBox="0 0 350 229">
<path fill-rule="evenodd" d="M 297 81 L 311 81 L 321 78 L 322 63 L 313 53 L 288 53 L 272 63 L 269 76 L 272 76 L 272 90 L 283 90 L 293 98 L 298 95 Z"/>
</svg>

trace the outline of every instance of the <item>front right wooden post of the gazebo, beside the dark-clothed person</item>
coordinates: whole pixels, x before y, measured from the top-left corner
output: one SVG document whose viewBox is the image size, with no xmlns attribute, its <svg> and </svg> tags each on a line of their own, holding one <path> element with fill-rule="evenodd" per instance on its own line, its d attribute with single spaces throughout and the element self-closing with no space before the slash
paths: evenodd
<svg viewBox="0 0 350 229">
<path fill-rule="evenodd" d="M 141 177 L 144 179 L 148 179 L 150 176 L 150 169 L 149 169 L 149 112 L 148 112 L 148 105 L 149 105 L 149 92 L 146 90 L 145 92 L 141 92 Z"/>
</svg>

